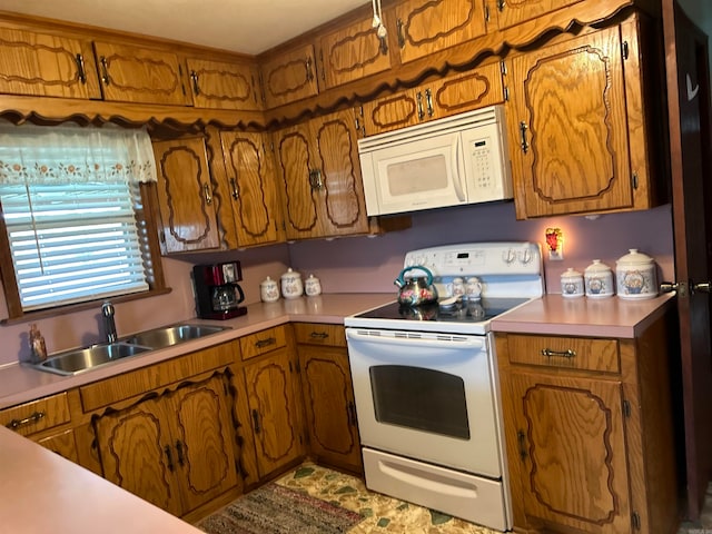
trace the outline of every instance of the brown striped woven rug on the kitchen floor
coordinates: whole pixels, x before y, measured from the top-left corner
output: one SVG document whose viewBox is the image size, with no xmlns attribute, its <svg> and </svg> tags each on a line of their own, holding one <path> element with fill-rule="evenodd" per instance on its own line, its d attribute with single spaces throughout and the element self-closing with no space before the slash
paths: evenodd
<svg viewBox="0 0 712 534">
<path fill-rule="evenodd" d="M 305 492 L 267 484 L 197 526 L 209 534 L 339 534 L 362 516 Z"/>
</svg>

